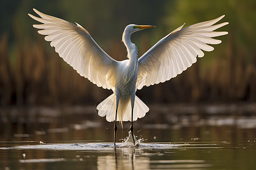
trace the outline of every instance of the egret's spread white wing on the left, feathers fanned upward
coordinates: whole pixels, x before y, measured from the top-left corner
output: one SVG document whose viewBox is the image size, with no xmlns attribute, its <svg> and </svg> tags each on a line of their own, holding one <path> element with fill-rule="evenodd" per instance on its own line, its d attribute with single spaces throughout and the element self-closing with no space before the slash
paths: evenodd
<svg viewBox="0 0 256 170">
<path fill-rule="evenodd" d="M 51 41 L 50 45 L 55 47 L 65 62 L 98 87 L 114 88 L 113 76 L 118 61 L 106 54 L 85 28 L 33 10 L 41 18 L 28 15 L 43 23 L 34 24 L 33 27 L 42 29 L 38 33 L 45 35 L 46 41 Z"/>
</svg>

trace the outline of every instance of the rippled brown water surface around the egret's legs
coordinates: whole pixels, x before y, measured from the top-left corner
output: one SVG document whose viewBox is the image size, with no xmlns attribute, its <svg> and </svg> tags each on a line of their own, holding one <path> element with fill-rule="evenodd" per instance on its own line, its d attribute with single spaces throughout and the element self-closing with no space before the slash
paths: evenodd
<svg viewBox="0 0 256 170">
<path fill-rule="evenodd" d="M 155 107 L 115 147 L 93 108 L 2 109 L 0 169 L 255 169 L 254 106 Z"/>
</svg>

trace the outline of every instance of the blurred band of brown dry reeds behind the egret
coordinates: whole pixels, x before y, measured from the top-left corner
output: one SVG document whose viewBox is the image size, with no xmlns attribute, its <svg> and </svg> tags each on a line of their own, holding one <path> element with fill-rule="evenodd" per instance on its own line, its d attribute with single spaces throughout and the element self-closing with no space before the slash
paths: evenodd
<svg viewBox="0 0 256 170">
<path fill-rule="evenodd" d="M 24 42 L 18 36 L 14 56 L 8 39 L 0 39 L 1 105 L 95 104 L 111 94 L 77 74 L 48 49 L 42 36 Z M 214 58 L 211 69 L 202 69 L 199 62 L 177 78 L 137 94 L 146 103 L 256 101 L 256 54 L 246 63 L 246 50 L 235 53 L 234 48 L 230 39 L 228 50 Z M 122 53 L 118 49 L 114 46 L 110 52 Z"/>
</svg>

